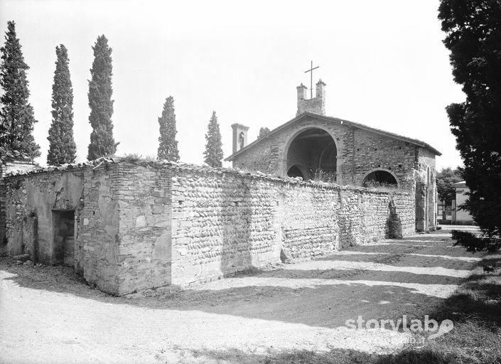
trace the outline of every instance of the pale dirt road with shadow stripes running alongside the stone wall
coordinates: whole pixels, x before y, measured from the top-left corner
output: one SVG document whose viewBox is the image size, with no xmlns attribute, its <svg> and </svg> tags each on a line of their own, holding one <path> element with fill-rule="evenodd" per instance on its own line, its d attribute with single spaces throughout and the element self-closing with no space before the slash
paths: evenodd
<svg viewBox="0 0 501 364">
<path fill-rule="evenodd" d="M 65 267 L 0 258 L 0 363 L 262 362 L 291 350 L 387 353 L 409 341 L 348 319 L 431 314 L 480 255 L 450 232 L 353 247 L 183 291 L 112 297 Z"/>
</svg>

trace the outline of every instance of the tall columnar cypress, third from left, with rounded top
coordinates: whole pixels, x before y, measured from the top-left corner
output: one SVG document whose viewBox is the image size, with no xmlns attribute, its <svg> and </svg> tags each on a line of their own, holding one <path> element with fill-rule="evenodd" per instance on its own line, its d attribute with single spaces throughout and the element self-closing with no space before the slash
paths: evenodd
<svg viewBox="0 0 501 364">
<path fill-rule="evenodd" d="M 102 156 L 111 156 L 117 151 L 113 138 L 113 88 L 112 88 L 112 48 L 105 36 L 98 36 L 94 50 L 94 62 L 89 81 L 89 122 L 92 126 L 90 134 L 88 160 Z"/>
</svg>

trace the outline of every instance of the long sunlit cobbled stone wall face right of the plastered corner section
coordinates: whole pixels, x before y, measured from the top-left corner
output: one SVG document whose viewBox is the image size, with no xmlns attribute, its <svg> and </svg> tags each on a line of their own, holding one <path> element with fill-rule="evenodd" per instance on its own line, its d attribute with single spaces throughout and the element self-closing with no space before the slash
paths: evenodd
<svg viewBox="0 0 501 364">
<path fill-rule="evenodd" d="M 414 232 L 414 193 L 172 166 L 172 284 Z"/>
</svg>

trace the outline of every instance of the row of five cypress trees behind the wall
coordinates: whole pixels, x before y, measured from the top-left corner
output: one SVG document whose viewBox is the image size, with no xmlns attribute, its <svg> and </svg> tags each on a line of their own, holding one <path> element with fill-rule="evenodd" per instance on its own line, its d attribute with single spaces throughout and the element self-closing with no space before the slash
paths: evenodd
<svg viewBox="0 0 501 364">
<path fill-rule="evenodd" d="M 114 155 L 119 144 L 113 137 L 112 48 L 103 35 L 97 37 L 92 50 L 94 61 L 90 70 L 88 93 L 92 133 L 88 160 Z M 36 158 L 40 156 L 40 146 L 33 138 L 33 126 L 37 120 L 33 114 L 33 107 L 28 102 L 30 92 L 26 71 L 29 67 L 21 52 L 14 21 L 8 22 L 5 45 L 0 48 L 0 52 L 0 86 L 4 90 L 0 97 L 0 155 L 16 151 L 30 158 Z M 48 132 L 47 163 L 58 166 L 75 161 L 76 144 L 73 137 L 73 89 L 68 50 L 61 44 L 55 48 L 55 53 L 57 60 L 52 88 L 52 123 Z M 166 99 L 158 124 L 160 126 L 158 158 L 178 161 L 173 97 Z M 205 163 L 215 167 L 221 166 L 222 142 L 215 112 L 212 112 L 205 139 Z"/>
</svg>

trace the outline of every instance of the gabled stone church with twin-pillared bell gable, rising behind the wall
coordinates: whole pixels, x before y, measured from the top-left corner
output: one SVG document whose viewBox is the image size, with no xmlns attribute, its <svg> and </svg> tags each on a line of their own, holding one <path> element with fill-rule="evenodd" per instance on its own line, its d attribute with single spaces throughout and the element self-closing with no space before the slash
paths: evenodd
<svg viewBox="0 0 501 364">
<path fill-rule="evenodd" d="M 248 127 L 232 124 L 234 168 L 278 176 L 328 177 L 339 185 L 390 185 L 416 194 L 416 230 L 436 227 L 436 156 L 424 141 L 325 115 L 325 83 L 316 97 L 297 87 L 296 117 L 247 144 Z"/>
</svg>

